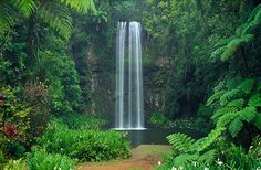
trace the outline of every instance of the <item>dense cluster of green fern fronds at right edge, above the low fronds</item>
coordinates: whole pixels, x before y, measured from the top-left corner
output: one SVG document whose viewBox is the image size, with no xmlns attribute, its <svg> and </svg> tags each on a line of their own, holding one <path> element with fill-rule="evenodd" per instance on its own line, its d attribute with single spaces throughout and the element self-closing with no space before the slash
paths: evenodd
<svg viewBox="0 0 261 170">
<path fill-rule="evenodd" d="M 231 79 L 233 82 L 233 79 Z M 229 82 L 227 84 L 230 84 Z M 232 89 L 222 89 L 222 95 L 219 97 L 210 97 L 207 102 L 208 105 L 219 100 L 220 107 L 216 110 L 212 118 L 217 120 L 217 128 L 228 127 L 232 137 L 236 137 L 243 127 L 243 121 L 254 123 L 254 118 L 260 114 L 255 105 L 252 104 L 251 98 L 258 98 L 257 81 L 252 78 L 239 82 Z M 220 92 L 213 94 L 217 96 Z M 215 98 L 215 99 L 213 99 Z M 255 98 L 255 99 L 257 99 Z M 259 128 L 259 126 L 257 126 Z"/>
</svg>

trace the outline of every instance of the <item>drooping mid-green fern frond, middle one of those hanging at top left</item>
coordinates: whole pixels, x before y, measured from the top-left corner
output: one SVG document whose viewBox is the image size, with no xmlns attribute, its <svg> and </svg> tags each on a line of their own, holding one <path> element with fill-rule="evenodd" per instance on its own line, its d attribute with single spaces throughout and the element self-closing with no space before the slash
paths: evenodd
<svg viewBox="0 0 261 170">
<path fill-rule="evenodd" d="M 39 15 L 60 35 L 69 39 L 72 32 L 72 17 L 66 6 L 58 0 L 45 0 L 39 9 Z"/>
</svg>

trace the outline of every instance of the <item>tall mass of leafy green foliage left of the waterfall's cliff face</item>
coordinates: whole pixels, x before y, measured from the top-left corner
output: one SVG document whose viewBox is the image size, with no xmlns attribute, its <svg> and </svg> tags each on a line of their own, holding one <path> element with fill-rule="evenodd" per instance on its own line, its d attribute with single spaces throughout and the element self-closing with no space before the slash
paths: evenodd
<svg viewBox="0 0 261 170">
<path fill-rule="evenodd" d="M 75 63 L 66 53 L 64 41 L 54 35 L 49 35 L 45 39 L 46 44 L 40 52 L 42 60 L 38 75 L 46 79 L 51 111 L 56 115 L 69 114 L 79 107 L 81 98 Z"/>
</svg>

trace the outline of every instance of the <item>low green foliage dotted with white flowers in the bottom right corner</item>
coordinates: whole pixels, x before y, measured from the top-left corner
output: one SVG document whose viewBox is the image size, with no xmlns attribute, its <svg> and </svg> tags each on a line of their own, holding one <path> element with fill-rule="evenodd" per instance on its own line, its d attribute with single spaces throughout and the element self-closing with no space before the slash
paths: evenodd
<svg viewBox="0 0 261 170">
<path fill-rule="evenodd" d="M 157 169 L 257 169 L 260 167 L 260 137 L 255 137 L 249 151 L 241 146 L 236 146 L 223 138 L 218 138 L 213 144 L 215 149 L 203 155 L 174 152 L 164 159 L 165 163 Z"/>
</svg>

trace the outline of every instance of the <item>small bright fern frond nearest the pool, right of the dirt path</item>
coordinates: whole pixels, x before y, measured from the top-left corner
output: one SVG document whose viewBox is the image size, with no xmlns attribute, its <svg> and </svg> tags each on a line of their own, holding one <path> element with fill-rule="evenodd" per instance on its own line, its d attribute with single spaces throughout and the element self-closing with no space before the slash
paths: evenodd
<svg viewBox="0 0 261 170">
<path fill-rule="evenodd" d="M 167 137 L 169 144 L 173 145 L 175 149 L 181 152 L 189 151 L 189 146 L 191 146 L 195 142 L 195 139 L 191 137 L 185 135 L 185 134 L 173 134 Z"/>
</svg>

